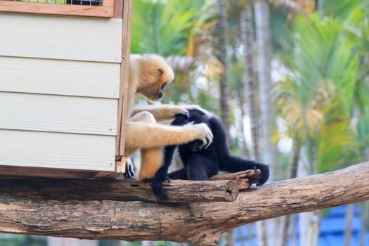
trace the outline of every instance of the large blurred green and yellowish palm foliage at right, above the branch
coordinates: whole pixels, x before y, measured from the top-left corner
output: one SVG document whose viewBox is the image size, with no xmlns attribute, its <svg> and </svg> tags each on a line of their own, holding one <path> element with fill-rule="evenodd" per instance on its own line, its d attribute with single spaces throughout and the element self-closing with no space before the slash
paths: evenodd
<svg viewBox="0 0 369 246">
<path fill-rule="evenodd" d="M 349 15 L 349 14 L 347 14 Z M 354 146 L 350 129 L 360 53 L 349 21 L 310 15 L 292 23 L 294 53 L 287 65 L 292 71 L 281 82 L 278 105 L 294 141 L 306 144 L 318 171 L 333 169 L 343 148 Z"/>
</svg>

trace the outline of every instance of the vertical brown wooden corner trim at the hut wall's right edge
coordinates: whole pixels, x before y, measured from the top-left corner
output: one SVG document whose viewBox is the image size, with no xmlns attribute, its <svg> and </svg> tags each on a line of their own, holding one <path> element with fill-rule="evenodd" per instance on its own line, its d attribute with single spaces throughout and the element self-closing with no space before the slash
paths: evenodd
<svg viewBox="0 0 369 246">
<path fill-rule="evenodd" d="M 122 34 L 122 65 L 120 70 L 120 93 L 118 101 L 118 127 L 116 153 L 119 156 L 124 155 L 125 127 L 128 114 L 128 86 L 129 86 L 129 56 L 131 48 L 131 26 L 132 26 L 132 0 L 124 1 L 123 9 L 123 34 Z"/>
</svg>

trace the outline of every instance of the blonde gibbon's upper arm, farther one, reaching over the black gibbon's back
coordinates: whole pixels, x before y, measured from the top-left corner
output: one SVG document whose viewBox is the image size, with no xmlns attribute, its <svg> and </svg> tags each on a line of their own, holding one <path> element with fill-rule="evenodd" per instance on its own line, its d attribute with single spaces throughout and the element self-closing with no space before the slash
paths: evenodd
<svg viewBox="0 0 369 246">
<path fill-rule="evenodd" d="M 154 115 L 157 122 L 170 121 L 174 119 L 176 115 L 188 114 L 186 108 L 178 105 L 136 105 L 132 111 L 132 116 L 139 112 L 147 111 Z"/>
</svg>

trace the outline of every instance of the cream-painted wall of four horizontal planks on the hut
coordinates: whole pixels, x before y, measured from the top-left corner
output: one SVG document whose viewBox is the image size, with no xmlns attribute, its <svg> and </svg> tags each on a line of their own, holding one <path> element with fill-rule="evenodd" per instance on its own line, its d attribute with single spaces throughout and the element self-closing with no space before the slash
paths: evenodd
<svg viewBox="0 0 369 246">
<path fill-rule="evenodd" d="M 0 12 L 0 166 L 115 170 L 122 18 Z"/>
</svg>

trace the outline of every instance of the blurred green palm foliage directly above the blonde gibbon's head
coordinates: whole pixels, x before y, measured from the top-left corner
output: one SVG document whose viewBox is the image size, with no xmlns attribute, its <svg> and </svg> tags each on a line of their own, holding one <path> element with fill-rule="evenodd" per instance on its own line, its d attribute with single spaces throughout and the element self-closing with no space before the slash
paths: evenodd
<svg viewBox="0 0 369 246">
<path fill-rule="evenodd" d="M 135 1 L 131 53 L 185 55 L 188 38 L 211 14 L 209 4 L 211 1 Z"/>
</svg>

